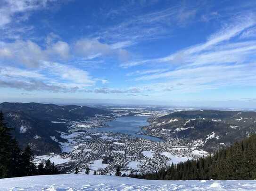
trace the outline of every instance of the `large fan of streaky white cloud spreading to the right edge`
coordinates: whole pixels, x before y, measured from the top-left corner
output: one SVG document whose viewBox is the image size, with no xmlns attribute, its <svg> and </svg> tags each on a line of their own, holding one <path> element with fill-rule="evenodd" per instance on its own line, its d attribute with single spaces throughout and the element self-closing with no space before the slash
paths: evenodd
<svg viewBox="0 0 256 191">
<path fill-rule="evenodd" d="M 254 18 L 253 15 L 238 17 L 237 21 L 227 24 L 222 30 L 211 35 L 205 43 L 185 48 L 169 56 L 127 62 L 121 66 L 130 67 L 146 63 L 155 63 L 155 66 L 156 63 L 172 65 L 172 70 L 157 73 L 151 73 L 150 70 L 147 73 L 145 70 L 144 73 L 137 72 L 134 78 L 135 81 L 150 81 L 144 85 L 159 92 L 197 92 L 229 86 L 254 86 L 256 41 L 241 41 L 238 38 L 244 31 L 256 25 Z"/>
</svg>

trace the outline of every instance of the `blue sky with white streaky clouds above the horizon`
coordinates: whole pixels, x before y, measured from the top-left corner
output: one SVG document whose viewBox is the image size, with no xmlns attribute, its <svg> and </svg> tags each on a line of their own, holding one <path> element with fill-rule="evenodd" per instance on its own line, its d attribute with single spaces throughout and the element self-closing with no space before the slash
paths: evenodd
<svg viewBox="0 0 256 191">
<path fill-rule="evenodd" d="M 0 101 L 256 108 L 255 0 L 0 0 Z"/>
</svg>

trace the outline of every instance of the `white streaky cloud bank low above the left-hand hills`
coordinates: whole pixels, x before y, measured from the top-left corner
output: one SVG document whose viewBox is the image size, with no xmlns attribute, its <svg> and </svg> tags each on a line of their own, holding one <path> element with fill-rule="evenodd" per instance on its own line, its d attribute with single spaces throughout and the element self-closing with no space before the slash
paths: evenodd
<svg viewBox="0 0 256 191">
<path fill-rule="evenodd" d="M 102 80 L 107 83 L 107 80 Z M 37 69 L 0 67 L 0 87 L 25 91 L 77 92 L 95 84 L 87 71 L 57 62 L 42 61 Z"/>
</svg>

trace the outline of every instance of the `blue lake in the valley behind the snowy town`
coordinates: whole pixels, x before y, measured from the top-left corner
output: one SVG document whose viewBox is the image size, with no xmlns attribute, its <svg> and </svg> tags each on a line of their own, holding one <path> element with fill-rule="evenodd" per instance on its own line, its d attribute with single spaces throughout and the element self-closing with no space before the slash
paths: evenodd
<svg viewBox="0 0 256 191">
<path fill-rule="evenodd" d="M 125 133 L 137 138 L 145 138 L 155 142 L 163 142 L 162 139 L 157 137 L 136 134 L 137 132 L 141 131 L 140 126 L 149 125 L 149 122 L 147 122 L 148 118 L 149 117 L 146 116 L 118 117 L 113 121 L 106 122 L 109 127 L 92 128 L 90 131 Z"/>
</svg>

